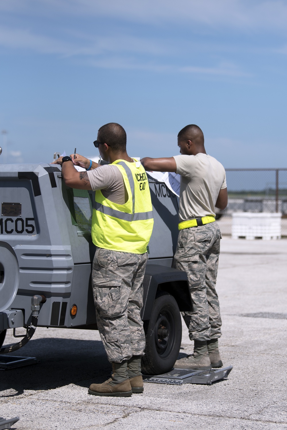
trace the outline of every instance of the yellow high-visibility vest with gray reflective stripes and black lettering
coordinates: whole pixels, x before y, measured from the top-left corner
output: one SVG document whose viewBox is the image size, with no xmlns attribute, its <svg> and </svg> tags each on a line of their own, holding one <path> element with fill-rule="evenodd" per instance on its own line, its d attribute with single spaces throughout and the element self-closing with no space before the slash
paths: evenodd
<svg viewBox="0 0 287 430">
<path fill-rule="evenodd" d="M 153 206 L 147 174 L 139 161 L 116 160 L 128 200 L 113 203 L 96 190 L 92 216 L 92 240 L 96 246 L 113 251 L 144 254 L 153 231 Z"/>
</svg>

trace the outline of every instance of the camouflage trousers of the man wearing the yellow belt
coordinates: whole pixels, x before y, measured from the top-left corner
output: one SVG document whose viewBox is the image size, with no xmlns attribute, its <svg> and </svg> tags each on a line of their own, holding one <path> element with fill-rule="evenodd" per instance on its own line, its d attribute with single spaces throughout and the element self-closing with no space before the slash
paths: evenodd
<svg viewBox="0 0 287 430">
<path fill-rule="evenodd" d="M 220 230 L 216 222 L 180 230 L 174 267 L 188 276 L 193 312 L 182 312 L 190 340 L 220 338 L 221 317 L 215 290 Z"/>
</svg>

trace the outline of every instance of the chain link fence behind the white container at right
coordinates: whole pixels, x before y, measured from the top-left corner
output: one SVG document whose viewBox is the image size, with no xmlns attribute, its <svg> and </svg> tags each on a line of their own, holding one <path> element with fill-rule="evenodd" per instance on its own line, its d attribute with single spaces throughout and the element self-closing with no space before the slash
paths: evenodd
<svg viewBox="0 0 287 430">
<path fill-rule="evenodd" d="M 280 212 L 282 237 L 287 237 L 287 169 L 226 169 L 228 206 L 219 219 L 231 234 L 233 212 Z"/>
</svg>

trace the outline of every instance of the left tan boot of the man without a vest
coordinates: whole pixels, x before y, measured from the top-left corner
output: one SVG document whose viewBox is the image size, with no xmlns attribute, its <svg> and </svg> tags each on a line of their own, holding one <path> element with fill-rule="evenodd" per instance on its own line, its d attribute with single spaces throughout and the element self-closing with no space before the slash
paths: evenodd
<svg viewBox="0 0 287 430">
<path fill-rule="evenodd" d="M 211 369 L 206 341 L 194 341 L 193 354 L 177 360 L 174 364 L 177 369 Z"/>
</svg>

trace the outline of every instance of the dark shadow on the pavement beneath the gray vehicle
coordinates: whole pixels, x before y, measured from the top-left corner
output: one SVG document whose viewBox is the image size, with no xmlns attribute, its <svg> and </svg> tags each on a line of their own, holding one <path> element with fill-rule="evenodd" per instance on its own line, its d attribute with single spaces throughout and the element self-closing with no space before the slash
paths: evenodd
<svg viewBox="0 0 287 430">
<path fill-rule="evenodd" d="M 9 354 L 10 355 L 10 354 Z M 11 356 L 34 356 L 37 364 L 0 371 L 0 397 L 18 396 L 24 390 L 51 390 L 68 384 L 89 387 L 104 382 L 111 365 L 101 341 L 42 338 L 31 340 Z M 6 395 L 7 390 L 16 393 Z"/>
</svg>

